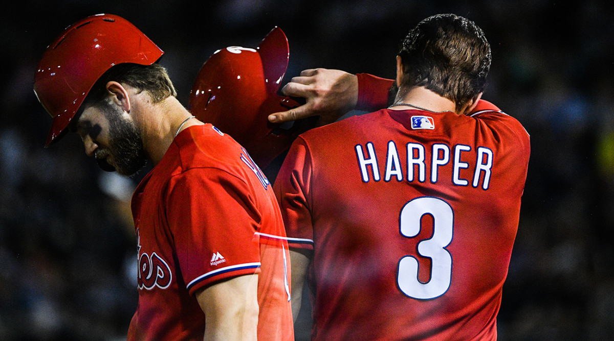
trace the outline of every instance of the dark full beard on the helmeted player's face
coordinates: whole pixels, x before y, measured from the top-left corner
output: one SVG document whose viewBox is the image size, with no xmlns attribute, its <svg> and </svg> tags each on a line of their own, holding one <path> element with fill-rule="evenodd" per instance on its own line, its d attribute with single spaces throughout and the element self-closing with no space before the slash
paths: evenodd
<svg viewBox="0 0 614 341">
<path fill-rule="evenodd" d="M 132 121 L 123 118 L 123 111 L 111 103 L 105 102 L 102 110 L 109 120 L 109 147 L 96 152 L 96 163 L 104 171 L 132 176 L 147 163 L 141 131 Z M 112 156 L 113 165 L 107 162 L 107 156 Z"/>
</svg>

